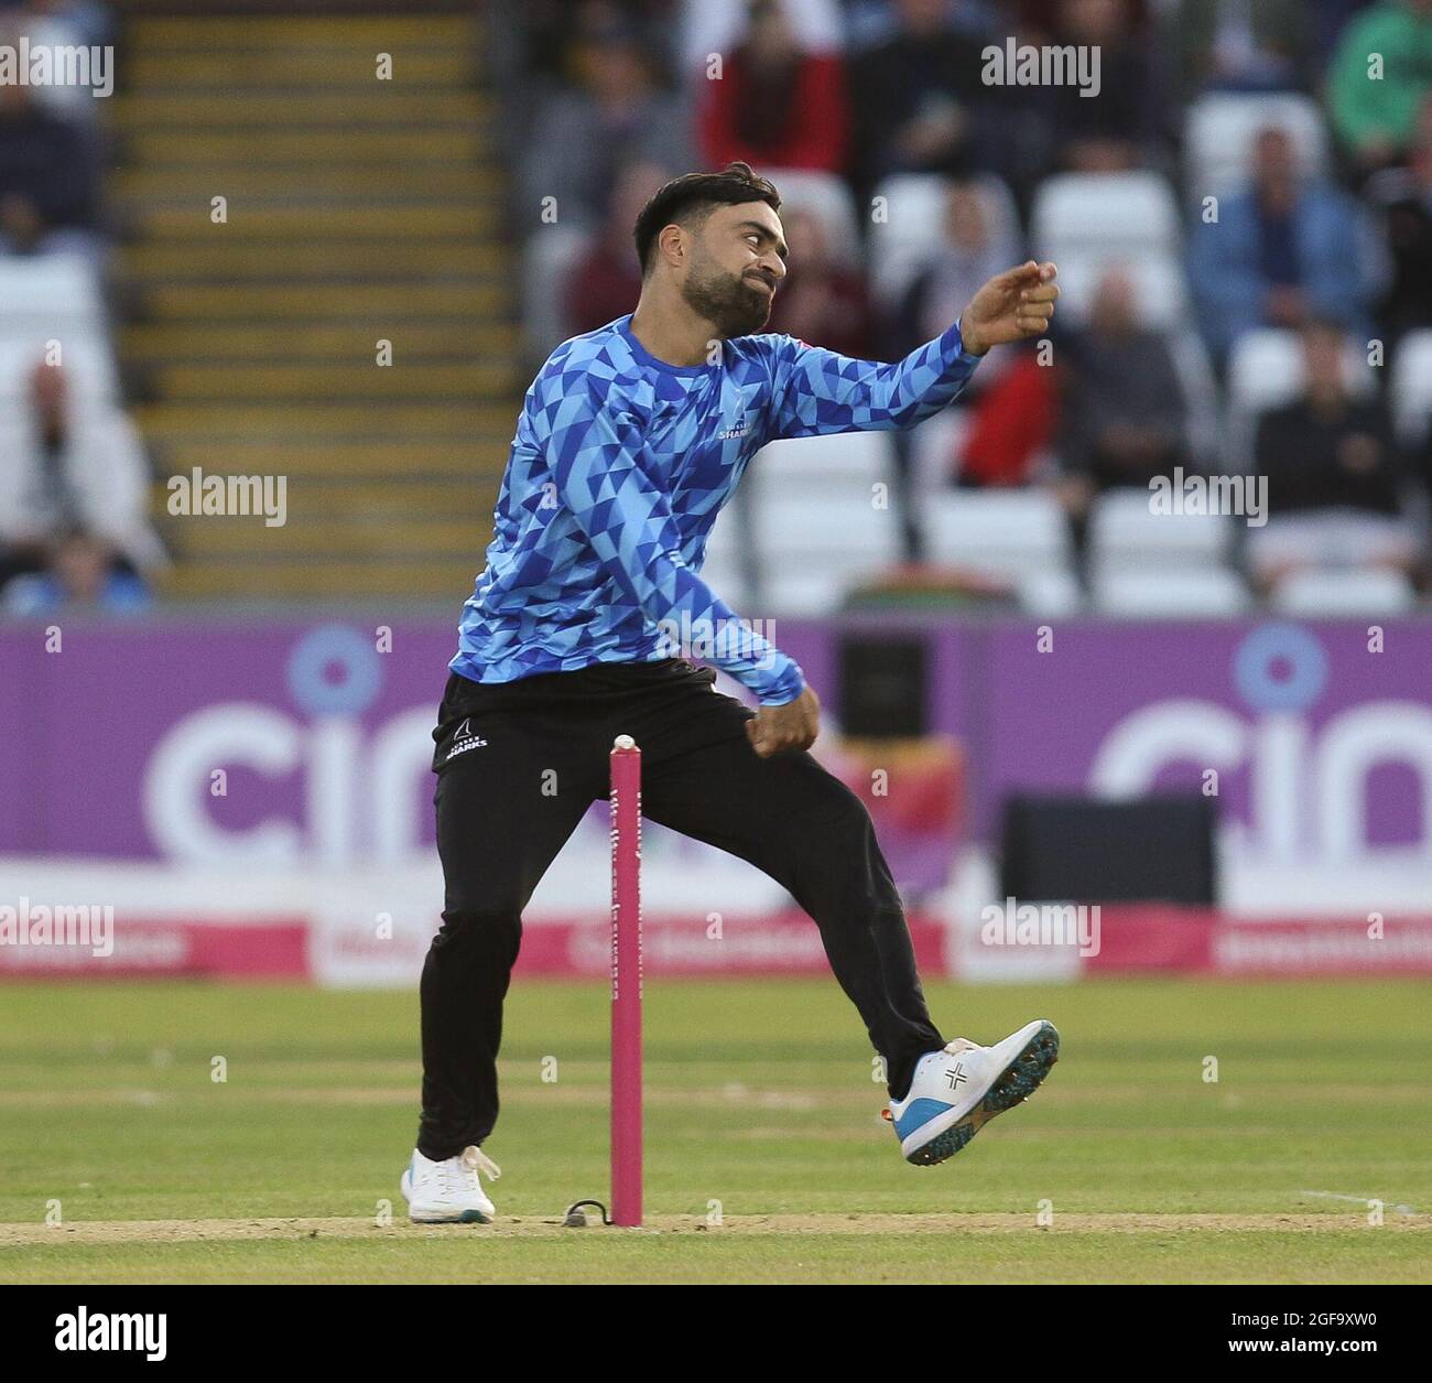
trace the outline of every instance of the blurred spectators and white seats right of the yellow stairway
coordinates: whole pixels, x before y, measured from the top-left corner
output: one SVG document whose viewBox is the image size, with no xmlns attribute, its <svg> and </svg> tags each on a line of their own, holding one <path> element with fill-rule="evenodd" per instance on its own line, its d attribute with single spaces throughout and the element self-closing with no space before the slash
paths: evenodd
<svg viewBox="0 0 1432 1383">
<path fill-rule="evenodd" d="M 914 433 L 753 467 L 713 560 L 762 608 L 829 608 L 892 557 L 1048 612 L 1398 609 L 1425 589 L 1428 0 L 507 13 L 531 365 L 630 311 L 644 198 L 729 159 L 782 191 L 770 330 L 812 344 L 895 360 L 991 274 L 1060 265 L 1048 358 L 997 351 Z M 1095 46 L 1098 95 L 987 85 L 982 52 L 1010 39 Z M 1150 480 L 1180 469 L 1267 477 L 1269 522 L 1150 515 Z M 885 532 L 872 474 L 896 497 Z"/>
</svg>

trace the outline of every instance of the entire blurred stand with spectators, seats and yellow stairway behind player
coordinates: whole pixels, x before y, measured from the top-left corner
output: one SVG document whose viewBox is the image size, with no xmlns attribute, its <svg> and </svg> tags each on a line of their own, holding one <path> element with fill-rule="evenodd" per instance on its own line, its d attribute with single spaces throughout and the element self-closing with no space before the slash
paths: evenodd
<svg viewBox="0 0 1432 1383">
<path fill-rule="evenodd" d="M 646 198 L 736 158 L 785 198 L 772 331 L 895 360 L 1027 257 L 1064 291 L 921 429 L 773 447 L 712 546 L 739 609 L 1428 592 L 1432 0 L 168 9 L 0 0 L 0 43 L 120 70 L 0 86 L 0 609 L 458 599 L 531 371 L 634 305 Z M 1097 47 L 1098 95 L 988 85 L 1008 40 Z M 291 532 L 175 523 L 198 463 L 292 472 Z M 1151 512 L 1199 476 L 1267 522 Z"/>
</svg>

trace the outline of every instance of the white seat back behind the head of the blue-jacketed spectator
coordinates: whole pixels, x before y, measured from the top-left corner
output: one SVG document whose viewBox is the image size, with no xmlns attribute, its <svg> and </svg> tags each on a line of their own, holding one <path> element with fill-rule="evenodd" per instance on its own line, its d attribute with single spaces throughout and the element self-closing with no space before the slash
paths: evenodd
<svg viewBox="0 0 1432 1383">
<path fill-rule="evenodd" d="M 1196 205 L 1209 195 L 1226 196 L 1249 176 L 1253 142 L 1269 125 L 1285 129 L 1293 140 L 1305 175 L 1327 168 L 1327 136 L 1317 103 L 1309 96 L 1280 93 L 1200 96 L 1189 107 L 1184 125 L 1186 188 Z"/>
</svg>

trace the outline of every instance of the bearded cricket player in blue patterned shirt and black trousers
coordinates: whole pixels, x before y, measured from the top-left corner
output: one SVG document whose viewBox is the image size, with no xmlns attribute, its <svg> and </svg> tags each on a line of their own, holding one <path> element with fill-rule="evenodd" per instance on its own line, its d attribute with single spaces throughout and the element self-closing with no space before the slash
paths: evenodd
<svg viewBox="0 0 1432 1383">
<path fill-rule="evenodd" d="M 755 334 L 786 272 L 779 206 L 746 163 L 666 183 L 636 224 L 636 311 L 566 341 L 527 390 L 434 731 L 447 897 L 422 970 L 422 1118 L 402 1175 L 415 1221 L 493 1217 L 478 1172 L 497 1168 L 480 1149 L 521 910 L 607 795 L 619 734 L 642 748 L 646 817 L 749 860 L 815 919 L 885 1059 L 906 1161 L 958 1152 L 1057 1056 L 1042 1020 L 990 1048 L 945 1043 L 869 814 L 806 752 L 816 694 L 699 575 L 760 447 L 937 413 L 991 345 L 1048 328 L 1054 265 L 990 279 L 896 364 L 851 360 Z M 758 711 L 680 656 L 693 639 Z"/>
</svg>

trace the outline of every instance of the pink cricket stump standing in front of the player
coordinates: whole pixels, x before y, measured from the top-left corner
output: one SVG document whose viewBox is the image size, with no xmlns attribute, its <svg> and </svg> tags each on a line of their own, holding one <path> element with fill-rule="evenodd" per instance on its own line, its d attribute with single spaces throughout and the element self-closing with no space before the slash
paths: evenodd
<svg viewBox="0 0 1432 1383">
<path fill-rule="evenodd" d="M 611 1222 L 642 1222 L 642 751 L 611 748 Z"/>
</svg>

